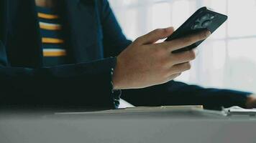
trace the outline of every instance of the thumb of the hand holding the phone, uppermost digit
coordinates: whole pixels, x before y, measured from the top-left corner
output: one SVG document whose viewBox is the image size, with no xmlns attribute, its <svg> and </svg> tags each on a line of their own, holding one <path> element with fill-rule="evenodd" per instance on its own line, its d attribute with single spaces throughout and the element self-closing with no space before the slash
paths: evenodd
<svg viewBox="0 0 256 143">
<path fill-rule="evenodd" d="M 170 34 L 173 34 L 173 27 L 168 27 L 166 29 L 155 29 L 154 31 L 151 31 L 149 34 L 146 34 L 144 36 L 141 36 L 137 39 L 141 44 L 152 44 L 160 39 L 165 39 Z"/>
</svg>

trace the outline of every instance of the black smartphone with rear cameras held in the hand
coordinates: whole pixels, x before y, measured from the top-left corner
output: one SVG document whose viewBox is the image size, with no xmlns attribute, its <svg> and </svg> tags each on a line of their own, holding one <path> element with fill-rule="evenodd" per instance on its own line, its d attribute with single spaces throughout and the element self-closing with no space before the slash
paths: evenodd
<svg viewBox="0 0 256 143">
<path fill-rule="evenodd" d="M 173 34 L 170 35 L 165 41 L 178 39 L 189 34 L 195 34 L 197 32 L 204 31 L 206 29 L 211 31 L 212 34 L 216 29 L 219 28 L 219 26 L 221 26 L 221 24 L 224 24 L 224 22 L 227 20 L 227 17 L 228 16 L 219 14 L 207 7 L 202 7 L 198 9 L 192 16 L 190 16 L 188 20 L 185 21 L 185 23 L 183 23 L 177 30 L 175 30 Z M 204 40 L 197 41 L 190 46 L 175 50 L 173 53 L 194 49 L 203 41 Z"/>
</svg>

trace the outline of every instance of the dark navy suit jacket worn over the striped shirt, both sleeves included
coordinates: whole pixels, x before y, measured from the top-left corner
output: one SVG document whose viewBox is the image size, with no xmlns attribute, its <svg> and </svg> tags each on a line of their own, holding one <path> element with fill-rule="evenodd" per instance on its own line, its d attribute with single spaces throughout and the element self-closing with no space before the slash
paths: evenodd
<svg viewBox="0 0 256 143">
<path fill-rule="evenodd" d="M 127 40 L 106 0 L 63 0 L 70 64 L 44 67 L 35 0 L 0 0 L 0 106 L 114 108 L 111 68 Z M 122 91 L 135 106 L 244 107 L 247 92 L 168 82 Z"/>
</svg>

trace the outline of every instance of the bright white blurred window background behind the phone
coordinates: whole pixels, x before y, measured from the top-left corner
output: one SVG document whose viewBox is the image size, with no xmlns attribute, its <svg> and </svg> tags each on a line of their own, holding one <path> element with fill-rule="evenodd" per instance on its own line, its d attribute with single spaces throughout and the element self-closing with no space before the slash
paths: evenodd
<svg viewBox="0 0 256 143">
<path fill-rule="evenodd" d="M 109 0 L 129 39 L 183 24 L 201 6 L 229 16 L 177 81 L 256 92 L 256 0 Z"/>
</svg>

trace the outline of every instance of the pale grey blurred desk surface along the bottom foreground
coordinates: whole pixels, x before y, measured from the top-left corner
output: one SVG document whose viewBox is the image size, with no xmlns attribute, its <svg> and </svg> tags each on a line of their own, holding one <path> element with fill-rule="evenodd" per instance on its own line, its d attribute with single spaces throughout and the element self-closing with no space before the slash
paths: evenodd
<svg viewBox="0 0 256 143">
<path fill-rule="evenodd" d="M 0 115 L 1 143 L 256 142 L 256 118 L 197 112 Z"/>
</svg>

